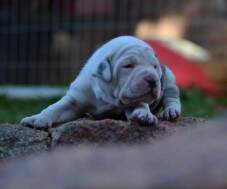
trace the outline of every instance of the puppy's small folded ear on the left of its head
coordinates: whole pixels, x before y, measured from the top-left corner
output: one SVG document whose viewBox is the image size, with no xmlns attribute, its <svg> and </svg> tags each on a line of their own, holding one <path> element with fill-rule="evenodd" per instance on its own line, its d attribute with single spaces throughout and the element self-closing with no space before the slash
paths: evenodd
<svg viewBox="0 0 227 189">
<path fill-rule="evenodd" d="M 96 76 L 103 79 L 106 82 L 111 81 L 112 79 L 111 66 L 107 60 L 104 60 L 99 64 Z"/>
</svg>

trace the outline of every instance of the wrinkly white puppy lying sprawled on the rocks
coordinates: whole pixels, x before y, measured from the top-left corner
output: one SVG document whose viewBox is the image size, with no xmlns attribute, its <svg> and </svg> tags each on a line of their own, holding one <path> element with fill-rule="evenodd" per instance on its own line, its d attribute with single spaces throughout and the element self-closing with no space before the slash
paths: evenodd
<svg viewBox="0 0 227 189">
<path fill-rule="evenodd" d="M 172 72 L 160 65 L 152 48 L 130 36 L 101 46 L 88 60 L 63 98 L 22 124 L 37 128 L 74 120 L 89 113 L 97 118 L 124 113 L 128 120 L 154 125 L 159 117 L 181 113 Z"/>
</svg>

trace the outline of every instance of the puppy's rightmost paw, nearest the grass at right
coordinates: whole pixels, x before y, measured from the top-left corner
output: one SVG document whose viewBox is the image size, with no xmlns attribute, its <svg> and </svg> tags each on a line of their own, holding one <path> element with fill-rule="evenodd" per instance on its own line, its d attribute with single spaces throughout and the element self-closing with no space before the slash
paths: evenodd
<svg viewBox="0 0 227 189">
<path fill-rule="evenodd" d="M 175 106 L 169 106 L 167 108 L 165 108 L 160 114 L 159 114 L 159 118 L 162 120 L 167 120 L 167 121 L 171 121 L 171 120 L 175 120 L 177 119 L 181 114 L 181 110 L 178 107 Z"/>
</svg>

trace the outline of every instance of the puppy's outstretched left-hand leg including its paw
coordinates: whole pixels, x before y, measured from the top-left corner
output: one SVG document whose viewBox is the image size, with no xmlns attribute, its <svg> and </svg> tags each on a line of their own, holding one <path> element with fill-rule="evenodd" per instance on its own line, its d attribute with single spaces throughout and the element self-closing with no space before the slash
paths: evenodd
<svg viewBox="0 0 227 189">
<path fill-rule="evenodd" d="M 56 123 L 71 121 L 78 116 L 77 114 L 78 107 L 75 101 L 69 96 L 64 96 L 39 114 L 22 119 L 21 123 L 36 128 L 46 128 Z"/>
</svg>

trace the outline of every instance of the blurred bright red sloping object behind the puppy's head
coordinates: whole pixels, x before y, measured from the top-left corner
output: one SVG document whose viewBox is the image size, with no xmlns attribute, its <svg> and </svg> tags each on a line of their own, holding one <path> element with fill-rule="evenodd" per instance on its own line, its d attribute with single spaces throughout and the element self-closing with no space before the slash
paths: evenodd
<svg viewBox="0 0 227 189">
<path fill-rule="evenodd" d="M 211 95 L 220 95 L 216 84 L 208 78 L 199 64 L 168 48 L 162 41 L 151 40 L 147 43 L 154 49 L 160 63 L 173 71 L 179 87 L 196 87 Z"/>
</svg>

